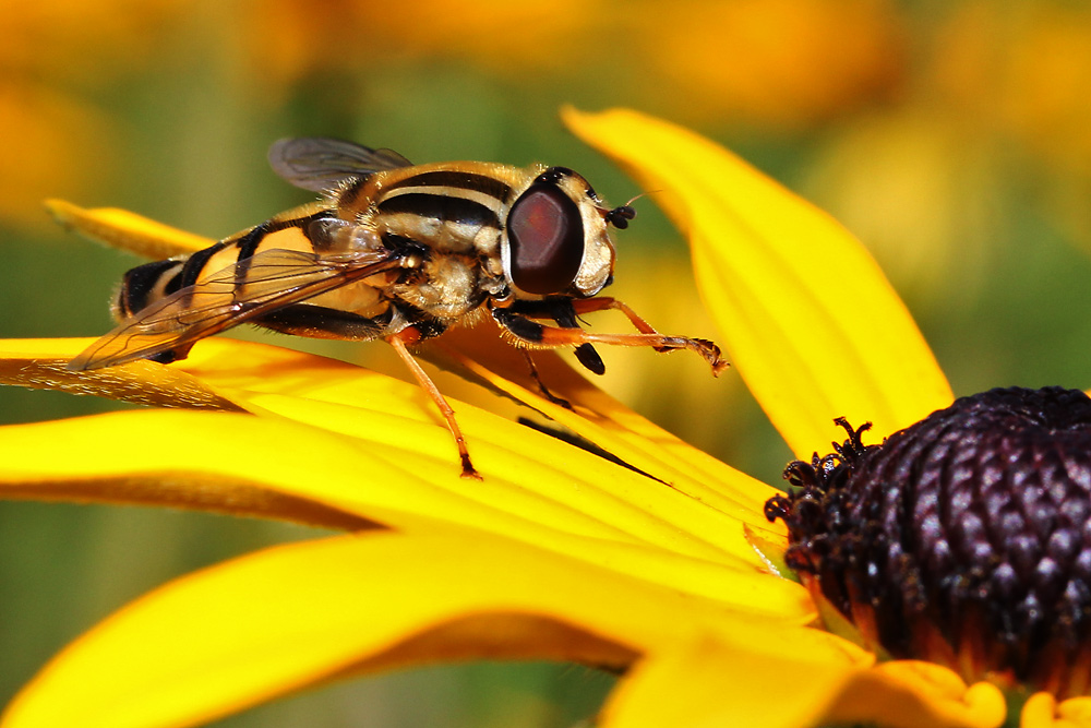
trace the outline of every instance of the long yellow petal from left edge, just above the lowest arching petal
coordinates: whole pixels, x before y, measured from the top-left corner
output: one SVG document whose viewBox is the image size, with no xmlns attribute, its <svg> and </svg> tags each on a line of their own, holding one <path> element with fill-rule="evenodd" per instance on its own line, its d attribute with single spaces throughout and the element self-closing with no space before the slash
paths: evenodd
<svg viewBox="0 0 1091 728">
<path fill-rule="evenodd" d="M 508 430 L 501 437 L 529 438 L 533 457 L 501 447 L 493 457 L 479 447 L 485 479 L 469 482 L 458 477 L 439 425 L 266 396 L 338 427 L 339 418 L 356 420 L 358 437 L 280 417 L 183 410 L 12 426 L 0 429 L 0 494 L 157 503 L 336 528 L 400 528 L 407 518 L 436 517 L 661 582 L 738 613 L 814 618 L 802 587 L 770 578 L 748 546 L 734 550 L 738 522 L 720 516 L 723 545 L 702 540 L 676 521 L 699 504 L 533 430 L 501 421 Z M 472 433 L 476 420 L 468 421 Z M 123 456 L 104 442 L 123 443 Z M 64 443 L 63 458 L 55 456 L 57 443 Z"/>
</svg>

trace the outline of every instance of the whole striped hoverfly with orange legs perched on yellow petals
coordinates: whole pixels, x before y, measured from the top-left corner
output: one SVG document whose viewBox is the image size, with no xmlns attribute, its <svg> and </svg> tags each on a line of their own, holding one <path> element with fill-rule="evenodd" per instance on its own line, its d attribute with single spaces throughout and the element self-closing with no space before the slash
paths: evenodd
<svg viewBox="0 0 1091 728">
<path fill-rule="evenodd" d="M 288 139 L 269 150 L 273 169 L 323 199 L 216 244 L 129 271 L 116 301 L 120 324 L 69 363 L 72 370 L 151 359 L 169 363 L 240 323 L 319 338 L 383 338 L 446 420 L 461 475 L 479 478 L 454 411 L 408 346 L 487 311 L 524 349 L 575 347 L 601 374 L 592 345 L 691 349 L 719 373 L 711 342 L 663 336 L 624 303 L 597 294 L 610 284 L 609 226 L 636 212 L 609 207 L 565 167 L 483 162 L 413 165 L 391 150 L 334 139 Z M 618 309 L 638 333 L 595 334 L 577 317 Z M 555 325 L 544 322 L 553 322 Z"/>
</svg>

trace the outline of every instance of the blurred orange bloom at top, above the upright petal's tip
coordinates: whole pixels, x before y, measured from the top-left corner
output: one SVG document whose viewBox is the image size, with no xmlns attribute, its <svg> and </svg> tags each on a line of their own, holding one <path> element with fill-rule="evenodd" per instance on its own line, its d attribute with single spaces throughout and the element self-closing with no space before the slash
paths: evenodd
<svg viewBox="0 0 1091 728">
<path fill-rule="evenodd" d="M 891 99 L 906 73 L 903 20 L 884 0 L 640 8 L 625 15 L 661 76 L 647 91 L 697 119 L 798 129 Z"/>
</svg>

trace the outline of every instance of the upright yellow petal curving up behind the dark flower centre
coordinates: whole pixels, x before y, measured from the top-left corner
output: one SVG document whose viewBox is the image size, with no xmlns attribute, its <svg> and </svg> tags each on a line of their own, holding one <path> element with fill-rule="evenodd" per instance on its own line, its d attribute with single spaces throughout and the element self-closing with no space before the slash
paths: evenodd
<svg viewBox="0 0 1091 728">
<path fill-rule="evenodd" d="M 698 285 L 740 374 L 800 456 L 876 438 L 950 404 L 932 351 L 882 271 L 828 215 L 720 146 L 634 111 L 568 109 L 690 237 Z"/>
</svg>

